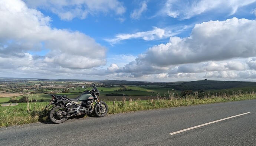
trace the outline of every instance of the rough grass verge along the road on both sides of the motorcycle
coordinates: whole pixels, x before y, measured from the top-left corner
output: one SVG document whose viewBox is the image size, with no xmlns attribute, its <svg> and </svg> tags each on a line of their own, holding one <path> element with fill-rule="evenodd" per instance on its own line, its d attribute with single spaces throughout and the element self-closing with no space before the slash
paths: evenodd
<svg viewBox="0 0 256 146">
<path fill-rule="evenodd" d="M 151 110 L 161 109 L 177 106 L 189 106 L 197 104 L 230 102 L 239 100 L 251 100 L 256 99 L 256 95 L 253 94 L 240 94 L 224 97 L 204 97 L 202 99 L 188 96 L 186 98 L 171 98 L 171 99 L 157 99 L 157 100 L 132 100 L 129 101 L 125 98 L 122 101 L 107 102 L 109 107 L 108 114 L 122 113 L 122 112 L 134 112 L 139 110 Z M 26 103 L 18 104 L 18 106 L 0 107 L 0 127 L 11 125 L 22 125 L 25 123 L 45 122 L 49 121 L 48 113 L 50 109 L 45 109 L 48 103 L 39 103 L 33 107 L 30 111 L 26 109 Z"/>
</svg>

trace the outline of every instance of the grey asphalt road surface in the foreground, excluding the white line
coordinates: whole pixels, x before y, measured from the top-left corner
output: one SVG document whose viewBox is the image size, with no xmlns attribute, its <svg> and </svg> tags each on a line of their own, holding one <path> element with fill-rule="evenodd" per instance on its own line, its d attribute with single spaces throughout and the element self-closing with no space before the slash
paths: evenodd
<svg viewBox="0 0 256 146">
<path fill-rule="evenodd" d="M 170 133 L 201 126 L 185 132 Z M 0 145 L 256 146 L 256 100 L 175 107 L 0 128 Z"/>
</svg>

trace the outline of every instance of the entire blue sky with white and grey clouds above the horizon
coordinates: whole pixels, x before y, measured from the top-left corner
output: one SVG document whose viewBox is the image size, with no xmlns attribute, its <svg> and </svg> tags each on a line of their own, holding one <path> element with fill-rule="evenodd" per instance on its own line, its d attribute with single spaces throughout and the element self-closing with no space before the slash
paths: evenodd
<svg viewBox="0 0 256 146">
<path fill-rule="evenodd" d="M 0 77 L 256 82 L 256 0 L 0 0 Z"/>
</svg>

